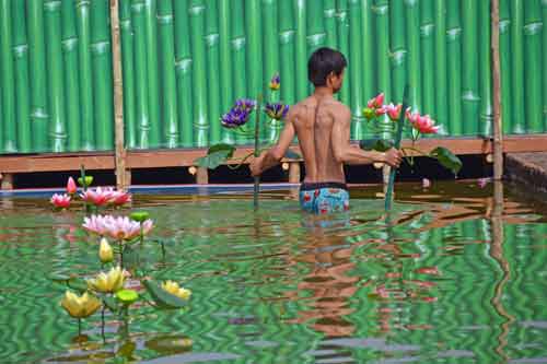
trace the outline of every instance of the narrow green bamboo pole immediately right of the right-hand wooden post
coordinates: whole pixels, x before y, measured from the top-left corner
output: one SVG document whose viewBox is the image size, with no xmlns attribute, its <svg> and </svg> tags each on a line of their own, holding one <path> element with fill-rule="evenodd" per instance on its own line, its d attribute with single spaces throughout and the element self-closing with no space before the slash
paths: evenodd
<svg viewBox="0 0 547 364">
<path fill-rule="evenodd" d="M 502 0 L 500 1 L 500 79 L 503 133 L 510 133 L 513 130 L 511 69 L 511 10 L 509 1 Z"/>
</svg>

